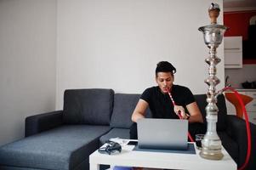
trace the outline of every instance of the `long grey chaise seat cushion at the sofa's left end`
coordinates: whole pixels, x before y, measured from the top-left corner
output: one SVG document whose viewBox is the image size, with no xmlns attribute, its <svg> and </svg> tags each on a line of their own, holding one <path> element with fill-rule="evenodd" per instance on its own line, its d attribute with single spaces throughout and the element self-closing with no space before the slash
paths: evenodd
<svg viewBox="0 0 256 170">
<path fill-rule="evenodd" d="M 0 165 L 73 169 L 99 147 L 109 126 L 69 125 L 20 139 L 0 148 Z"/>
</svg>

